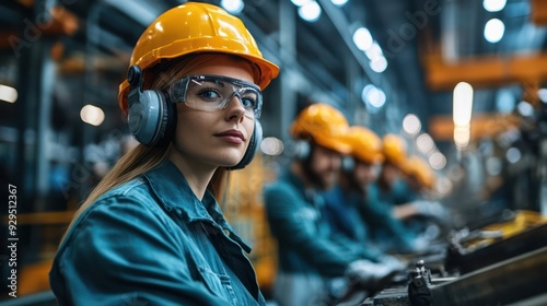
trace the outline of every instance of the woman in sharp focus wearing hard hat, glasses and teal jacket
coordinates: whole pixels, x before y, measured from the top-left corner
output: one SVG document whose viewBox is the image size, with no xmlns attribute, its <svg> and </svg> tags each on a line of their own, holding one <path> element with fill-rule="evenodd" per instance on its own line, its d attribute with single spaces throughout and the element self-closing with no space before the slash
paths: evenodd
<svg viewBox="0 0 547 306">
<path fill-rule="evenodd" d="M 219 209 L 260 142 L 278 75 L 235 16 L 187 2 L 144 31 L 119 87 L 140 144 L 83 202 L 54 260 L 59 305 L 265 305 Z"/>
</svg>

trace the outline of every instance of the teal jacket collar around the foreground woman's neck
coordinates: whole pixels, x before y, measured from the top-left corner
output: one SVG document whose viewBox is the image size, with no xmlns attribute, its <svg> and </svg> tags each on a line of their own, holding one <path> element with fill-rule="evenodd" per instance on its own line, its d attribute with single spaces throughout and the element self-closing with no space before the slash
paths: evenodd
<svg viewBox="0 0 547 306">
<path fill-rule="evenodd" d="M 224 219 L 213 195 L 207 190 L 203 200 L 200 201 L 173 162 L 165 160 L 158 167 L 146 173 L 144 179 L 148 180 L 152 192 L 167 211 L 174 210 L 189 222 L 212 221 L 224 232 L 229 231 L 230 237 L 237 242 L 245 251 L 251 251 L 251 247 L 234 233 Z"/>
</svg>

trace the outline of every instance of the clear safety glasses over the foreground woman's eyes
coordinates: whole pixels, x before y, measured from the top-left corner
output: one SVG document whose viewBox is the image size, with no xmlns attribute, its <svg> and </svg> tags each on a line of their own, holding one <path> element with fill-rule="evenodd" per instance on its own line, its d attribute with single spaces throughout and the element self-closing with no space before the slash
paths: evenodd
<svg viewBox="0 0 547 306">
<path fill-rule="evenodd" d="M 257 85 L 222 75 L 185 76 L 171 84 L 168 94 L 175 103 L 184 102 L 188 107 L 206 111 L 226 108 L 236 96 L 245 108 L 245 116 L 256 119 L 260 118 L 263 108 L 263 94 Z"/>
</svg>

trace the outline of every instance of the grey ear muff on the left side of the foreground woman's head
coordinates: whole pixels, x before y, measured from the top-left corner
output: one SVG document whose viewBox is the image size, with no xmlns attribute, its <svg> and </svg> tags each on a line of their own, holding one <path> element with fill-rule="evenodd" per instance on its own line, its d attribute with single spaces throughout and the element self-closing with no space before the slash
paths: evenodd
<svg viewBox="0 0 547 306">
<path fill-rule="evenodd" d="M 147 146 L 163 146 L 171 142 L 176 128 L 176 107 L 160 91 L 142 91 L 142 71 L 129 68 L 128 125 L 133 137 Z"/>
</svg>

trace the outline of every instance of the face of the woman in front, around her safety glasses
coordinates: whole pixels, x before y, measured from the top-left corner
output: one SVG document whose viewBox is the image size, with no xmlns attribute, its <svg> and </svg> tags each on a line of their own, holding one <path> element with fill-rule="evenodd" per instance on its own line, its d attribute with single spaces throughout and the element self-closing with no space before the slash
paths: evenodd
<svg viewBox="0 0 547 306">
<path fill-rule="evenodd" d="M 228 56 L 207 61 L 189 74 L 217 74 L 254 83 L 251 64 Z M 177 115 L 175 148 L 188 164 L 230 167 L 242 160 L 255 119 L 245 116 L 237 97 L 232 97 L 226 108 L 212 111 L 177 103 Z"/>
</svg>

